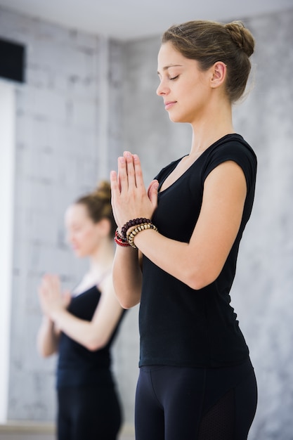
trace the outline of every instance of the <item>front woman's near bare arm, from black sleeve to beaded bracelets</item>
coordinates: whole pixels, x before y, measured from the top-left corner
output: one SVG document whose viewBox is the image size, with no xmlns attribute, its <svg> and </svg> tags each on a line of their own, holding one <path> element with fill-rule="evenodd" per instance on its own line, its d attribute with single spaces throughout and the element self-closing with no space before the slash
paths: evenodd
<svg viewBox="0 0 293 440">
<path fill-rule="evenodd" d="M 189 243 L 145 230 L 136 235 L 135 244 L 153 263 L 193 289 L 209 285 L 233 246 L 246 193 L 242 169 L 235 162 L 223 162 L 204 183 L 202 209 Z"/>
</svg>

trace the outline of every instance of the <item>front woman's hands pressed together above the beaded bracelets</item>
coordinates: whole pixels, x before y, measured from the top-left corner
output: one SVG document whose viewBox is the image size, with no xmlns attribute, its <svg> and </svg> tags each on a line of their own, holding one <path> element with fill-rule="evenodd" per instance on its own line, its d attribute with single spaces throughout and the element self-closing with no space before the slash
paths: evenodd
<svg viewBox="0 0 293 440">
<path fill-rule="evenodd" d="M 112 210 L 119 231 L 131 219 L 152 219 L 157 207 L 157 180 L 150 182 L 148 190 L 143 183 L 143 173 L 138 155 L 125 151 L 118 158 L 118 172 L 110 173 Z"/>
</svg>

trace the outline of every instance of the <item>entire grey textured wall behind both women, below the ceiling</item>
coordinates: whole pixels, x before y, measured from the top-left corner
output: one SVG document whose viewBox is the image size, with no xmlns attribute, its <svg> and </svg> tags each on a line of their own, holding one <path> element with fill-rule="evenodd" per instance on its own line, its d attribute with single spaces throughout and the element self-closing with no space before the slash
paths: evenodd
<svg viewBox="0 0 293 440">
<path fill-rule="evenodd" d="M 256 38 L 254 87 L 235 129 L 259 157 L 252 218 L 240 247 L 232 301 L 251 349 L 259 408 L 250 440 L 293 439 L 293 10 L 245 20 Z M 109 107 L 101 108 L 100 39 L 0 8 L 0 35 L 27 44 L 27 82 L 16 86 L 17 145 L 9 419 L 52 420 L 56 359 L 35 349 L 37 284 L 57 271 L 67 286 L 84 268 L 65 245 L 63 212 L 99 176 L 99 112 L 108 117 L 108 167 L 129 149 L 145 183 L 188 153 L 190 127 L 173 124 L 156 96 L 159 37 L 110 42 Z M 126 422 L 138 374 L 137 311 L 115 345 Z"/>
</svg>

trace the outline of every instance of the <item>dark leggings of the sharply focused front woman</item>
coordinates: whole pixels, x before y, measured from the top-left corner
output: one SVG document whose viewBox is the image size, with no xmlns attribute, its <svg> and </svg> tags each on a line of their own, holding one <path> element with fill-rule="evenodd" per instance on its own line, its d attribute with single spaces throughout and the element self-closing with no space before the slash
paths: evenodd
<svg viewBox="0 0 293 440">
<path fill-rule="evenodd" d="M 249 359 L 231 368 L 141 367 L 136 440 L 246 440 L 256 403 Z"/>
</svg>

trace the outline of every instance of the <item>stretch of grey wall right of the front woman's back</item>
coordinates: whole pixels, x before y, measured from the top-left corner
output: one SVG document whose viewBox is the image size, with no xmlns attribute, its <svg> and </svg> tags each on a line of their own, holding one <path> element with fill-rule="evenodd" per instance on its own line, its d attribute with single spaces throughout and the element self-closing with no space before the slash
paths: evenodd
<svg viewBox="0 0 293 440">
<path fill-rule="evenodd" d="M 293 439 L 292 20 L 293 10 L 247 20 L 257 41 L 255 84 L 235 117 L 259 157 L 235 284 L 259 382 L 255 440 Z"/>
</svg>

